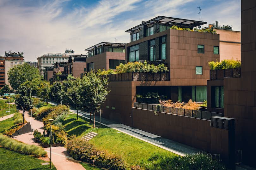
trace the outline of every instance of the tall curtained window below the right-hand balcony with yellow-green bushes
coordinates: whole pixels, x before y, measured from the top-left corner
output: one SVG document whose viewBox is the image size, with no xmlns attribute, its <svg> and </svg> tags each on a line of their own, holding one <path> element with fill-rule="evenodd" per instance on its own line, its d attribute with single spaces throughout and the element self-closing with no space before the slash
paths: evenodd
<svg viewBox="0 0 256 170">
<path fill-rule="evenodd" d="M 224 108 L 224 86 L 212 87 L 212 104 L 217 108 Z"/>
</svg>

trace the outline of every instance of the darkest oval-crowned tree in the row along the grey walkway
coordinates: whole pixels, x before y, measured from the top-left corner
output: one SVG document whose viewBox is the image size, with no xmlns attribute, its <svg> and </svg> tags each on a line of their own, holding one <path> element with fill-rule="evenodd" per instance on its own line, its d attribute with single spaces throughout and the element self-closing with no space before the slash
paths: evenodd
<svg viewBox="0 0 256 170">
<path fill-rule="evenodd" d="M 51 97 L 54 101 L 62 104 L 62 100 L 64 98 L 64 91 L 62 88 L 61 82 L 54 82 L 52 88 L 51 88 Z"/>
</svg>

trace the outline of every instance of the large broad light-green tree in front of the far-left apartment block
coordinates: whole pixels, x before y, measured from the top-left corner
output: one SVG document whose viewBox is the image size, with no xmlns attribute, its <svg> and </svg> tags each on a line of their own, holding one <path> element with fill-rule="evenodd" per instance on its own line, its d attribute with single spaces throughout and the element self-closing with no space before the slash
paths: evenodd
<svg viewBox="0 0 256 170">
<path fill-rule="evenodd" d="M 42 79 L 39 70 L 27 63 L 15 65 L 8 71 L 8 81 L 11 87 L 18 90 L 24 82 L 31 82 L 34 78 Z"/>
</svg>

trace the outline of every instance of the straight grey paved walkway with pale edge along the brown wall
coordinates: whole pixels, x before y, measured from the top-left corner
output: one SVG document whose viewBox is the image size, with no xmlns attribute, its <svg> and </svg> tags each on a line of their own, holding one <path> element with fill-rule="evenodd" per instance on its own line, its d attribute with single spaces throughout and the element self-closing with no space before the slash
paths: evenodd
<svg viewBox="0 0 256 170">
<path fill-rule="evenodd" d="M 49 103 L 52 104 L 52 105 L 56 105 L 55 102 L 49 102 Z M 77 110 L 70 108 L 70 112 L 76 114 Z M 85 117 L 87 119 L 90 119 L 90 114 L 89 113 L 82 112 L 82 111 L 78 110 L 78 115 L 80 115 L 82 117 Z M 100 123 L 100 117 L 99 116 L 95 116 L 95 122 Z M 175 142 L 175 141 L 170 140 L 170 139 L 162 138 L 161 136 L 157 136 L 155 134 L 148 133 L 148 132 L 142 131 L 142 130 L 134 128 L 134 127 L 126 126 L 126 125 L 121 124 L 121 123 L 113 122 L 111 120 L 108 120 L 108 119 L 105 119 L 105 118 L 102 118 L 102 117 L 101 117 L 101 124 L 105 125 L 107 127 L 111 127 L 113 129 L 116 129 L 116 130 L 118 130 L 122 133 L 133 136 L 137 139 L 140 139 L 140 140 L 143 140 L 143 141 L 148 142 L 150 144 L 153 144 L 155 146 L 158 146 L 162 149 L 173 152 L 173 153 L 175 153 L 177 155 L 180 155 L 180 156 L 184 156 L 186 154 L 193 154 L 193 153 L 201 151 L 201 150 L 198 150 L 198 149 L 193 148 L 191 146 L 181 144 L 179 142 Z"/>
</svg>

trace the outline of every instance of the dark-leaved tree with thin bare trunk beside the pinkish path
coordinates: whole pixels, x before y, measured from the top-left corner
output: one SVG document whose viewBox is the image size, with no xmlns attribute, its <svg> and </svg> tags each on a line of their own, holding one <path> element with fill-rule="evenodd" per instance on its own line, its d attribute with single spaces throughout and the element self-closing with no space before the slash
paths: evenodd
<svg viewBox="0 0 256 170">
<path fill-rule="evenodd" d="M 25 111 L 32 109 L 33 98 L 31 97 L 32 88 L 21 86 L 19 88 L 20 97 L 15 100 L 15 105 L 18 110 L 23 111 L 23 124 L 25 120 Z"/>
</svg>

